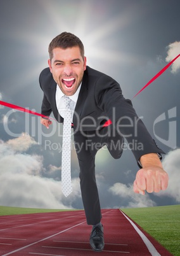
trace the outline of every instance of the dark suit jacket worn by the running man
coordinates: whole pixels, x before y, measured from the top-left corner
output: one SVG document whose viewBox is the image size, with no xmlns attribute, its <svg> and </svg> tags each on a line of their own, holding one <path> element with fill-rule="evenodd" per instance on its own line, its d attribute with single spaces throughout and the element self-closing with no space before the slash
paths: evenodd
<svg viewBox="0 0 180 256">
<path fill-rule="evenodd" d="M 63 122 L 56 108 L 56 82 L 49 68 L 42 70 L 39 83 L 44 92 L 42 115 L 49 117 L 53 111 L 56 120 Z M 95 131 L 101 129 L 107 120 L 111 120 L 112 127 L 118 129 L 127 139 L 136 160 L 146 153 L 164 153 L 136 115 L 131 101 L 122 95 L 119 83 L 110 76 L 87 66 L 75 106 L 74 130 L 87 131 L 87 133 Z M 138 150 L 137 145 L 140 143 L 143 148 Z"/>
</svg>

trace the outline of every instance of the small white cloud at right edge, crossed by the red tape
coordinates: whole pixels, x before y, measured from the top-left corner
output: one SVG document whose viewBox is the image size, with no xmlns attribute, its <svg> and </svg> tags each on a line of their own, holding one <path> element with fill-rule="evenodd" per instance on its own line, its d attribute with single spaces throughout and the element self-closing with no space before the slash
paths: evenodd
<svg viewBox="0 0 180 256">
<path fill-rule="evenodd" d="M 165 58 L 165 60 L 167 62 L 170 62 L 172 59 L 174 59 L 177 55 L 179 55 L 180 53 L 180 41 L 176 41 L 174 43 L 170 43 L 167 46 L 167 57 Z M 172 69 L 171 72 L 177 73 L 177 71 L 180 69 L 180 57 L 177 58 L 173 63 L 172 63 Z"/>
</svg>

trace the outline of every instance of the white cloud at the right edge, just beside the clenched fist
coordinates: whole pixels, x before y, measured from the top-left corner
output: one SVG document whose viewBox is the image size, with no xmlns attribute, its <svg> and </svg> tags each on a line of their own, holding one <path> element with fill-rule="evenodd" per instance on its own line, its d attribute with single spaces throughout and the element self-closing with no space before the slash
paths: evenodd
<svg viewBox="0 0 180 256">
<path fill-rule="evenodd" d="M 162 164 L 169 174 L 169 186 L 167 190 L 156 194 L 156 196 L 169 196 L 180 203 L 180 148 L 170 151 L 164 158 Z"/>
</svg>

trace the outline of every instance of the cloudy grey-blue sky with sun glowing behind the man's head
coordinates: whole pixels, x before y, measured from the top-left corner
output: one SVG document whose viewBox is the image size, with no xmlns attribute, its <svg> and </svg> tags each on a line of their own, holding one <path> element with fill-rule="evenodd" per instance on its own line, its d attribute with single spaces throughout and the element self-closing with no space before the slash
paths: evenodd
<svg viewBox="0 0 180 256">
<path fill-rule="evenodd" d="M 132 99 L 180 53 L 179 0 L 6 0 L 0 8 L 0 101 L 41 112 L 39 74 L 48 67 L 48 45 L 63 31 L 84 43 L 87 65 L 117 82 Z M 132 99 L 151 136 L 165 151 L 169 187 L 134 194 L 138 165 L 131 150 L 113 159 L 96 155 L 101 208 L 180 203 L 180 57 Z M 53 117 L 53 116 L 52 116 Z M 82 209 L 79 166 L 72 138 L 73 192 L 61 192 L 62 125 L 46 129 L 40 118 L 0 105 L 0 205 Z"/>
</svg>

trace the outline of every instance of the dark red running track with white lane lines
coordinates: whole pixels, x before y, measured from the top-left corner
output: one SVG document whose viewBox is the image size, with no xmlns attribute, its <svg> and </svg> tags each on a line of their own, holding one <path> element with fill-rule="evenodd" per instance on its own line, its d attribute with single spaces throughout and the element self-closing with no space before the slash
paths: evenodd
<svg viewBox="0 0 180 256">
<path fill-rule="evenodd" d="M 170 256 L 120 210 L 102 210 L 105 248 L 101 256 Z M 97 255 L 89 245 L 84 211 L 0 217 L 0 255 Z M 99 254 L 98 254 L 99 255 Z"/>
</svg>

